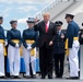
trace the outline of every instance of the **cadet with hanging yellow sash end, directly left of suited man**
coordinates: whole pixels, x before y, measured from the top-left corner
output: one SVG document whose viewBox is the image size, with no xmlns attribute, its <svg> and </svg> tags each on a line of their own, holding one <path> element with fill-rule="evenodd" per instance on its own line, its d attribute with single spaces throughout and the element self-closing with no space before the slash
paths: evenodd
<svg viewBox="0 0 83 82">
<path fill-rule="evenodd" d="M 26 30 L 23 31 L 23 55 L 24 55 L 24 61 L 25 61 L 25 69 L 26 69 L 26 75 L 25 78 L 36 78 L 36 40 L 37 40 L 37 32 L 34 31 L 34 19 L 28 17 L 26 21 L 27 27 Z M 32 67 L 32 73 L 31 75 L 31 69 L 29 69 L 29 63 Z"/>
</svg>

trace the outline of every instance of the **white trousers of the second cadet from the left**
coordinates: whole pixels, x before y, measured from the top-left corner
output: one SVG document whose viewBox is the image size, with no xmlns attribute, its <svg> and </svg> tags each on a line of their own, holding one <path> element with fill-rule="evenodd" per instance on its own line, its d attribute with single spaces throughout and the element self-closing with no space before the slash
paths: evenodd
<svg viewBox="0 0 83 82">
<path fill-rule="evenodd" d="M 9 58 L 10 75 L 19 75 L 20 74 L 20 48 L 9 45 L 8 58 Z"/>
</svg>

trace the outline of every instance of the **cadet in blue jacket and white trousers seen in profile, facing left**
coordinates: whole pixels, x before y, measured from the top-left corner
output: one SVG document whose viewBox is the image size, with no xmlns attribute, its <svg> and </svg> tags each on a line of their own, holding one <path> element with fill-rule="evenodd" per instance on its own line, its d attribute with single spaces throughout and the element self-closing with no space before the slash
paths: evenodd
<svg viewBox="0 0 83 82">
<path fill-rule="evenodd" d="M 79 25 L 73 21 L 73 14 L 66 14 L 68 22 L 67 40 L 69 50 L 70 79 L 79 79 Z"/>
</svg>

